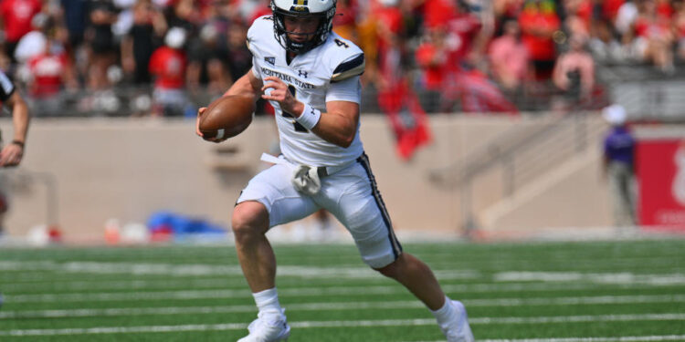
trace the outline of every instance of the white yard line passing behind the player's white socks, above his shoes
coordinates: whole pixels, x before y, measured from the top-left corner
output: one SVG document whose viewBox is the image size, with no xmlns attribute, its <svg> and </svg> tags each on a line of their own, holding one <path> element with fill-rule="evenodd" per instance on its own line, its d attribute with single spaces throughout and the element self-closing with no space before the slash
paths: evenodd
<svg viewBox="0 0 685 342">
<path fill-rule="evenodd" d="M 569 306 L 591 304 L 636 304 L 636 303 L 683 303 L 685 295 L 604 295 L 553 298 L 498 298 L 466 299 L 468 307 L 474 306 Z M 286 306 L 293 311 L 324 310 L 364 310 L 364 309 L 406 309 L 425 307 L 417 300 L 384 301 L 384 302 L 343 302 L 343 303 L 307 303 Z M 157 316 L 189 314 L 224 314 L 255 312 L 253 305 L 248 306 L 167 306 L 167 307 L 121 307 L 97 309 L 65 310 L 20 310 L 0 311 L 0 319 L 12 318 L 57 318 L 57 317 L 91 317 L 91 316 Z"/>
</svg>

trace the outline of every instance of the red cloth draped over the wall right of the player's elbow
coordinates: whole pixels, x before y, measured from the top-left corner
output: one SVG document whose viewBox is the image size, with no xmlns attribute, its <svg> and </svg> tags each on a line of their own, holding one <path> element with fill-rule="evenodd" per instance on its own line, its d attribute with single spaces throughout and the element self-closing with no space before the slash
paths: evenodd
<svg viewBox="0 0 685 342">
<path fill-rule="evenodd" d="M 408 161 L 417 148 L 430 143 L 426 112 L 406 81 L 379 92 L 378 104 L 390 119 L 395 132 L 395 149 L 400 158 Z"/>
</svg>

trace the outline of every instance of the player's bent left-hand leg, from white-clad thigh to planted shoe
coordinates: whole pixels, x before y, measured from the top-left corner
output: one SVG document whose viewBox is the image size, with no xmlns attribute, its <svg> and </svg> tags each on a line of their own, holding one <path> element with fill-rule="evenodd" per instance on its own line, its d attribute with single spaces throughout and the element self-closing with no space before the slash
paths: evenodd
<svg viewBox="0 0 685 342">
<path fill-rule="evenodd" d="M 290 337 L 276 289 L 276 257 L 266 237 L 270 227 L 288 223 L 317 210 L 290 183 L 290 169 L 274 165 L 259 172 L 240 194 L 232 225 L 238 261 L 258 306 L 249 335 L 238 342 L 275 342 Z"/>
</svg>

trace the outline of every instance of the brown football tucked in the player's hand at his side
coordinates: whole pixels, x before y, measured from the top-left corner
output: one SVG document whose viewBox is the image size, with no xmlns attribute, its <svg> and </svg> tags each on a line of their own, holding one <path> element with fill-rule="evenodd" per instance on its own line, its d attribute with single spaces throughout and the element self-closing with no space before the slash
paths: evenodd
<svg viewBox="0 0 685 342">
<path fill-rule="evenodd" d="M 252 122 L 255 100 L 248 96 L 227 95 L 217 98 L 200 116 L 203 138 L 227 139 L 240 134 Z"/>
</svg>

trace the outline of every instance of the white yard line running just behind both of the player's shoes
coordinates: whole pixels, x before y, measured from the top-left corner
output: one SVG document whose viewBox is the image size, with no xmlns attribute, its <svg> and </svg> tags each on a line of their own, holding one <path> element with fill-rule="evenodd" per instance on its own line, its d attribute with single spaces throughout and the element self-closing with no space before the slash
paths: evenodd
<svg viewBox="0 0 685 342">
<path fill-rule="evenodd" d="M 671 321 L 683 320 L 685 314 L 646 314 L 646 315 L 603 315 L 603 316 L 538 316 L 538 317 L 478 317 L 469 319 L 472 325 L 495 324 L 546 324 L 571 322 L 617 322 L 617 321 Z M 435 319 L 385 319 L 385 320 L 355 320 L 355 321 L 300 321 L 291 322 L 293 328 L 317 327 L 358 327 L 358 326 L 432 326 Z M 247 324 L 226 323 L 216 325 L 184 325 L 184 326 L 100 326 L 90 328 L 63 329 L 13 329 L 0 330 L 0 336 L 57 336 L 57 335 L 87 335 L 87 334 L 131 334 L 158 333 L 181 331 L 216 331 L 241 330 Z"/>
</svg>

